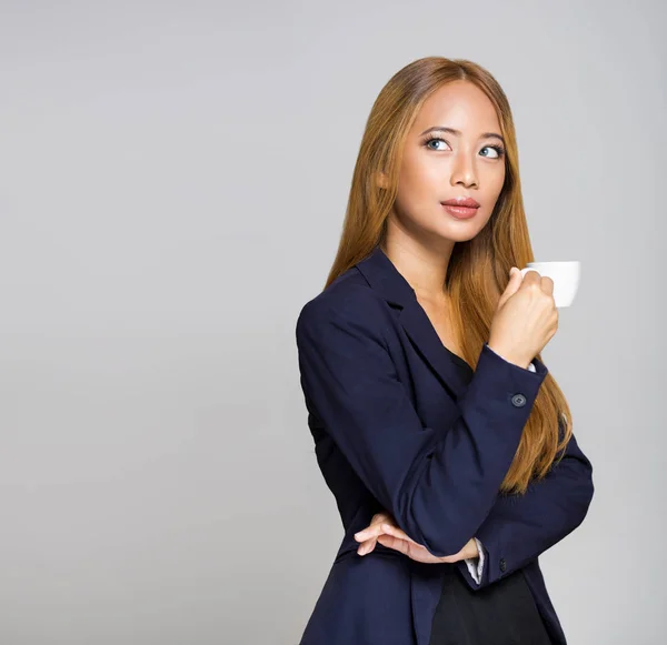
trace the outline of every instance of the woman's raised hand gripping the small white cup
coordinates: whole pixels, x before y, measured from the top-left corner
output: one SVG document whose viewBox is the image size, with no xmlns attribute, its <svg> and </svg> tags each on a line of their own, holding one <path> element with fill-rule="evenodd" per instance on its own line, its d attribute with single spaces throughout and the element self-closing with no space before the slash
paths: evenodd
<svg viewBox="0 0 667 645">
<path fill-rule="evenodd" d="M 488 346 L 506 361 L 527 369 L 558 330 L 554 281 L 512 266 L 509 283 L 491 321 Z"/>
</svg>

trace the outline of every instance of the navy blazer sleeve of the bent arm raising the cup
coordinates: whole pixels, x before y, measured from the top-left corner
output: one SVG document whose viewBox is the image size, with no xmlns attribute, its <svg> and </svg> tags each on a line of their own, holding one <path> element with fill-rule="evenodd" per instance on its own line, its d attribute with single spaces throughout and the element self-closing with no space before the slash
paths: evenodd
<svg viewBox="0 0 667 645">
<path fill-rule="evenodd" d="M 548 370 L 484 345 L 448 429 L 424 426 L 369 290 L 316 298 L 296 325 L 301 387 L 327 432 L 398 526 L 436 556 L 458 553 L 491 511 Z"/>
</svg>

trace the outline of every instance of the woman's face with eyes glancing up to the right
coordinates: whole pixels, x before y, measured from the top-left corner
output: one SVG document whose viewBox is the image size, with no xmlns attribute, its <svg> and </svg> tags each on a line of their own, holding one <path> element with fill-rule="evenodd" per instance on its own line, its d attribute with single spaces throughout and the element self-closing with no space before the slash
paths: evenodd
<svg viewBox="0 0 667 645">
<path fill-rule="evenodd" d="M 505 181 L 505 145 L 492 133 L 500 137 L 496 110 L 472 83 L 448 83 L 428 98 L 404 149 L 391 214 L 401 228 L 436 243 L 467 241 L 484 229 Z M 479 208 L 461 218 L 441 203 L 454 198 Z"/>
</svg>

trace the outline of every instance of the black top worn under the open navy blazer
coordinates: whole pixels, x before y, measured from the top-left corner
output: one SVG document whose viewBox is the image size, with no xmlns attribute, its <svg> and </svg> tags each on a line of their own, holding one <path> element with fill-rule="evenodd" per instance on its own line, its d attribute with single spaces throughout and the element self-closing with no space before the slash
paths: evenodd
<svg viewBox="0 0 667 645">
<path fill-rule="evenodd" d="M 447 351 L 469 383 L 472 367 Z M 551 645 L 521 570 L 481 589 L 470 588 L 455 565 L 442 572 L 429 645 Z"/>
</svg>

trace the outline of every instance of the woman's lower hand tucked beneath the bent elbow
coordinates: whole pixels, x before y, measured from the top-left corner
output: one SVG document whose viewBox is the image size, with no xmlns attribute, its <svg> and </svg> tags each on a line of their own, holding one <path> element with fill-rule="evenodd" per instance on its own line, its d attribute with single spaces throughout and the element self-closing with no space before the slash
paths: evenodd
<svg viewBox="0 0 667 645">
<path fill-rule="evenodd" d="M 400 551 L 404 555 L 407 555 L 410 560 L 424 563 L 440 563 L 440 562 L 458 562 L 467 557 L 479 557 L 479 551 L 477 550 L 477 542 L 471 537 L 468 543 L 458 553 L 454 555 L 444 555 L 437 557 L 429 553 L 426 546 L 418 544 L 411 537 L 401 531 L 394 517 L 388 513 L 376 513 L 370 521 L 370 524 L 355 534 L 355 540 L 361 542 L 361 545 L 357 550 L 359 555 L 366 555 L 370 553 L 376 543 L 379 542 L 382 546 Z"/>
</svg>

